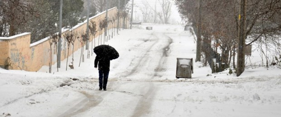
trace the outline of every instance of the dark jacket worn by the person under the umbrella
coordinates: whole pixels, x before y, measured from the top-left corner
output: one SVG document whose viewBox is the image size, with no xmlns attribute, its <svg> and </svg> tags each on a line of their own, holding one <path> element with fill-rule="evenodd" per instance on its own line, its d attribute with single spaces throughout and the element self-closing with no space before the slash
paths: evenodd
<svg viewBox="0 0 281 117">
<path fill-rule="evenodd" d="M 106 58 L 101 58 L 100 56 L 96 56 L 95 68 L 97 67 L 97 65 L 99 66 L 99 70 L 109 70 L 110 60 Z"/>
</svg>

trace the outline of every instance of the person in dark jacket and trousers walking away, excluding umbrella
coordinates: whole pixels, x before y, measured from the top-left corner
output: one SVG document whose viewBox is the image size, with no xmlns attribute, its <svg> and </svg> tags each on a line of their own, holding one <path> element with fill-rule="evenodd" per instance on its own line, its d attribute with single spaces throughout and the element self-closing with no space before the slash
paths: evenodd
<svg viewBox="0 0 281 117">
<path fill-rule="evenodd" d="M 96 56 L 94 67 L 99 66 L 99 90 L 106 91 L 106 85 L 109 75 L 110 59 L 106 57 Z"/>
</svg>

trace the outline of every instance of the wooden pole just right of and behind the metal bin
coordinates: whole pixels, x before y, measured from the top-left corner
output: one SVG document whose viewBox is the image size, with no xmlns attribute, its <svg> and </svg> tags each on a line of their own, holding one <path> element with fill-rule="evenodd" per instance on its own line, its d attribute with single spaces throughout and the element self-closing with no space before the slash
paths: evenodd
<svg viewBox="0 0 281 117">
<path fill-rule="evenodd" d="M 197 23 L 197 41 L 196 41 L 196 59 L 195 62 L 201 61 L 201 6 L 202 0 L 199 0 L 198 23 Z"/>
</svg>

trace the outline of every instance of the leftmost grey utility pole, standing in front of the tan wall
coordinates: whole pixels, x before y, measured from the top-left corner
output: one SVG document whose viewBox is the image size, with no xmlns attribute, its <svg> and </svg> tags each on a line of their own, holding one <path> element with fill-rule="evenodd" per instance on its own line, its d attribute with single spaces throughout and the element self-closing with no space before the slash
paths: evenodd
<svg viewBox="0 0 281 117">
<path fill-rule="evenodd" d="M 63 17 L 63 0 L 60 1 L 60 18 L 58 27 L 58 58 L 57 58 L 57 68 L 61 68 L 61 28 L 62 28 L 62 17 Z"/>
</svg>

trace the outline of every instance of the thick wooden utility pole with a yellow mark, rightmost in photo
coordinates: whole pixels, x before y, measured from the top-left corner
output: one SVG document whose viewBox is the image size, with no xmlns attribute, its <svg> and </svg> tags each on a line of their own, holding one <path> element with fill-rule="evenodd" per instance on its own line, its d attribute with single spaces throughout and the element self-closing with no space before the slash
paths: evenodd
<svg viewBox="0 0 281 117">
<path fill-rule="evenodd" d="M 246 0 L 240 0 L 238 16 L 238 53 L 236 76 L 245 70 L 245 40 L 246 40 Z"/>
</svg>

